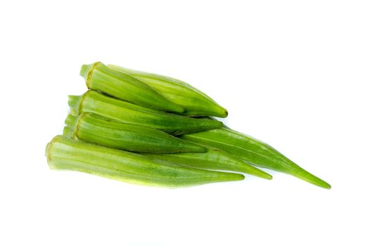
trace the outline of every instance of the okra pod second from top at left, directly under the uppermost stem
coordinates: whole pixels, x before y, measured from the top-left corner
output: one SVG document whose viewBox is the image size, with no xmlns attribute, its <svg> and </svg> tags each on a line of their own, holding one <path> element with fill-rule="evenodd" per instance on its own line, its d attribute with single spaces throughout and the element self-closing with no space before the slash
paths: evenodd
<svg viewBox="0 0 370 246">
<path fill-rule="evenodd" d="M 70 96 L 68 101 L 75 114 L 92 112 L 118 122 L 138 124 L 165 131 L 168 134 L 185 133 L 221 128 L 223 124 L 211 119 L 195 119 L 143 108 L 139 105 L 104 96 L 97 91 L 87 91 L 80 98 Z"/>
</svg>

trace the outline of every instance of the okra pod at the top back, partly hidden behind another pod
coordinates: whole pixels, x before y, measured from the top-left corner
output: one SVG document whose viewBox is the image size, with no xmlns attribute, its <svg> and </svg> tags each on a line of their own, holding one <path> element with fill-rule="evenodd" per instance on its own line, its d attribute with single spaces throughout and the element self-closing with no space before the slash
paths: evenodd
<svg viewBox="0 0 370 246">
<path fill-rule="evenodd" d="M 183 112 L 182 115 L 216 116 L 223 118 L 228 116 L 228 111 L 225 108 L 222 108 L 212 100 L 212 98 L 202 91 L 195 89 L 190 84 L 163 75 L 130 70 L 117 65 L 108 66 L 135 77 L 136 79 L 140 79 L 142 82 L 164 95 L 168 100 L 177 105 L 182 105 L 185 108 L 185 112 Z"/>
</svg>

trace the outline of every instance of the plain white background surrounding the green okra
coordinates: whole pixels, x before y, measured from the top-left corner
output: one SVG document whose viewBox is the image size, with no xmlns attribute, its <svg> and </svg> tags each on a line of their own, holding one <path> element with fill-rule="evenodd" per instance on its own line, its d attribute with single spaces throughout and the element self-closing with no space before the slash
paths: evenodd
<svg viewBox="0 0 370 246">
<path fill-rule="evenodd" d="M 369 1 L 1 1 L 0 245 L 369 245 Z M 183 189 L 49 169 L 80 65 L 182 79 L 331 183 Z"/>
</svg>

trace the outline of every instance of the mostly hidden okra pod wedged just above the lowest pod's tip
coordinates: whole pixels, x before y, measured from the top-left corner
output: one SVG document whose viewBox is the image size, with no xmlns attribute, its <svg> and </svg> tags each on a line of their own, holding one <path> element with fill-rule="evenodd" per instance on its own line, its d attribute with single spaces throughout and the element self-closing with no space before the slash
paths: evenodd
<svg viewBox="0 0 370 246">
<path fill-rule="evenodd" d="M 263 179 L 272 179 L 270 174 L 253 167 L 223 150 L 209 148 L 206 153 L 145 154 L 161 160 L 185 164 L 201 169 L 238 171 Z"/>
</svg>

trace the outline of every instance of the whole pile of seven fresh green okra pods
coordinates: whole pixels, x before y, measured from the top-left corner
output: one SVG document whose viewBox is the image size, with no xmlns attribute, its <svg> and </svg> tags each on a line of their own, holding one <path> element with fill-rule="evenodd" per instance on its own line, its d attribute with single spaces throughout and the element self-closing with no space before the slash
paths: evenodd
<svg viewBox="0 0 370 246">
<path fill-rule="evenodd" d="M 147 186 L 183 187 L 272 176 L 263 167 L 331 186 L 270 145 L 226 127 L 228 111 L 163 75 L 97 62 L 82 65 L 87 91 L 68 96 L 63 134 L 46 149 L 51 169 Z"/>
</svg>

